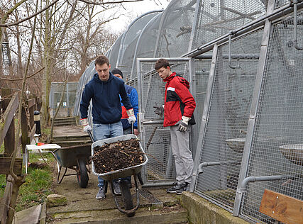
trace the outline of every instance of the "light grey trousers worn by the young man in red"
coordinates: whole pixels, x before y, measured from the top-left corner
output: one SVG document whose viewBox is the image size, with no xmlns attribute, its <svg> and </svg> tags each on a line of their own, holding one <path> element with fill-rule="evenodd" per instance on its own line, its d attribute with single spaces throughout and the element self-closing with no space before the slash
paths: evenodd
<svg viewBox="0 0 303 224">
<path fill-rule="evenodd" d="M 172 155 L 175 158 L 177 184 L 191 183 L 194 160 L 189 150 L 189 130 L 180 132 L 178 126 L 170 126 Z"/>
</svg>

